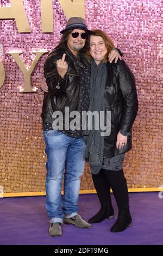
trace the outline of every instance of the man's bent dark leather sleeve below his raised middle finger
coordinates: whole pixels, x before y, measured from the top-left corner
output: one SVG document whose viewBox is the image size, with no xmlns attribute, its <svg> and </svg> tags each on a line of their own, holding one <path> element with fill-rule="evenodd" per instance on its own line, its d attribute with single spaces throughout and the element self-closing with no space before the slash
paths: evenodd
<svg viewBox="0 0 163 256">
<path fill-rule="evenodd" d="M 60 56 L 49 55 L 43 67 L 48 92 L 56 96 L 64 93 L 66 87 L 66 76 L 62 79 L 57 72 L 57 59 L 60 59 Z"/>
</svg>

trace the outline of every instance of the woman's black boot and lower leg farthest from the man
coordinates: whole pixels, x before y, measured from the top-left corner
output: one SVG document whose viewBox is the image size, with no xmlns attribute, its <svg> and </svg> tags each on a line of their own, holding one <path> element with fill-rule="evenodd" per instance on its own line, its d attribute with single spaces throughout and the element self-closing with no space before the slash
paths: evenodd
<svg viewBox="0 0 163 256">
<path fill-rule="evenodd" d="M 115 224 L 111 227 L 111 232 L 121 232 L 127 227 L 131 227 L 131 215 L 129 211 L 129 198 L 126 178 L 123 170 L 111 171 L 104 170 L 107 179 L 111 185 L 112 192 L 118 206 L 118 218 Z"/>
</svg>

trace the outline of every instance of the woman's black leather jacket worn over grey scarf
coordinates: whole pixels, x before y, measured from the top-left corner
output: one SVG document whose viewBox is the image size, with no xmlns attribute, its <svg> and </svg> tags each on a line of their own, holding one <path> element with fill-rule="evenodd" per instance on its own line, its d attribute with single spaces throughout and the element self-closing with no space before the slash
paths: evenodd
<svg viewBox="0 0 163 256">
<path fill-rule="evenodd" d="M 138 102 L 134 75 L 124 60 L 107 63 L 108 76 L 105 89 L 105 110 L 111 111 L 111 133 L 104 139 L 104 157 L 112 157 L 131 149 L 131 127 L 137 115 Z M 130 133 L 127 144 L 116 148 L 117 134 Z"/>
</svg>

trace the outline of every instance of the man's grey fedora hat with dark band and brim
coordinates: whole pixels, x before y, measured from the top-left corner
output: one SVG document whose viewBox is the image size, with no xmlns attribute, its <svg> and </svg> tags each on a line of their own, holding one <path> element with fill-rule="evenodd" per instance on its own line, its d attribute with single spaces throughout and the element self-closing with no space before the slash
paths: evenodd
<svg viewBox="0 0 163 256">
<path fill-rule="evenodd" d="M 60 33 L 64 34 L 65 31 L 75 28 L 82 29 L 87 31 L 88 33 L 91 33 L 91 31 L 86 26 L 85 20 L 81 17 L 71 17 L 70 19 L 68 19 L 65 29 L 62 30 Z"/>
</svg>

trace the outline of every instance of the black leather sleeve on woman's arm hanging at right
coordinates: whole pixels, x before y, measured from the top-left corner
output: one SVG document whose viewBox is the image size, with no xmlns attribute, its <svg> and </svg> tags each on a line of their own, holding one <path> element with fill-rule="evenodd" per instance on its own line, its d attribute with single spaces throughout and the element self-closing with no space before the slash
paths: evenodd
<svg viewBox="0 0 163 256">
<path fill-rule="evenodd" d="M 118 68 L 120 89 L 123 97 L 120 130 L 130 132 L 138 110 L 135 78 L 124 60 L 120 60 Z"/>
</svg>

